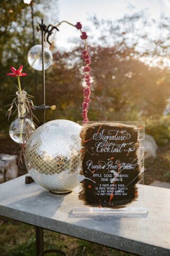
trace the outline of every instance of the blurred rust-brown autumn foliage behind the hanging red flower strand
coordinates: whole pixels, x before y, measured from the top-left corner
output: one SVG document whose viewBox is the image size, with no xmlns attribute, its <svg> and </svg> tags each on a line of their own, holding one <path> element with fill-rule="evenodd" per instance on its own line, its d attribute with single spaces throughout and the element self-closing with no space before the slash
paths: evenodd
<svg viewBox="0 0 170 256">
<path fill-rule="evenodd" d="M 82 120 L 82 48 L 53 54 L 54 64 L 47 74 L 47 102 L 56 104 L 49 119 Z M 90 47 L 92 95 L 90 120 L 141 120 L 159 118 L 170 96 L 168 69 L 150 67 L 130 56 L 133 49 Z"/>
</svg>

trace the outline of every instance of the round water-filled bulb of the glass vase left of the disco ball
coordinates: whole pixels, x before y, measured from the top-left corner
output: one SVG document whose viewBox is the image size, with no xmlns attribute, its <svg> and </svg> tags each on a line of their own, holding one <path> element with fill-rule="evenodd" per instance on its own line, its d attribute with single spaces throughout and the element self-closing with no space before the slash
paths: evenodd
<svg viewBox="0 0 170 256">
<path fill-rule="evenodd" d="M 15 119 L 9 129 L 10 137 L 16 143 L 25 143 L 25 134 L 33 133 L 35 130 L 35 126 L 33 122 L 26 118 L 26 119 Z"/>
</svg>

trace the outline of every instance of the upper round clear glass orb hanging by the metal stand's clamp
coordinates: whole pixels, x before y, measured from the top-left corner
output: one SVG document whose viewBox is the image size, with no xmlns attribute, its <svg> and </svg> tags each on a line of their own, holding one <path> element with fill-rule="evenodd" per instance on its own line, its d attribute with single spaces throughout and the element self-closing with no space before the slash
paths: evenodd
<svg viewBox="0 0 170 256">
<path fill-rule="evenodd" d="M 42 70 L 42 46 L 33 46 L 28 53 L 28 62 L 35 70 Z M 48 69 L 52 63 L 52 53 L 44 47 L 44 69 Z"/>
</svg>

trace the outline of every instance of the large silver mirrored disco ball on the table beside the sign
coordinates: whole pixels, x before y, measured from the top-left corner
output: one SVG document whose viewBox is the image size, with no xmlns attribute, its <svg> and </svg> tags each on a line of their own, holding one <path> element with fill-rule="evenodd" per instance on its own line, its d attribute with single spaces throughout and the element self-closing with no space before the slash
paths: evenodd
<svg viewBox="0 0 170 256">
<path fill-rule="evenodd" d="M 26 143 L 24 158 L 30 176 L 52 193 L 69 193 L 78 184 L 81 128 L 69 120 L 53 120 L 35 130 Z"/>
</svg>

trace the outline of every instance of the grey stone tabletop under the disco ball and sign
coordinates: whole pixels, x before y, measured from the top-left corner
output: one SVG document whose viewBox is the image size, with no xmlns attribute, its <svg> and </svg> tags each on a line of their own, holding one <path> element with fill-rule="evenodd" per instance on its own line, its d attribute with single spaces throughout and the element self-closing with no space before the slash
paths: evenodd
<svg viewBox="0 0 170 256">
<path fill-rule="evenodd" d="M 25 176 L 0 185 L 0 215 L 138 255 L 170 255 L 170 189 L 144 186 L 143 215 L 75 216 L 77 192 L 55 195 Z"/>
</svg>

